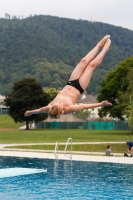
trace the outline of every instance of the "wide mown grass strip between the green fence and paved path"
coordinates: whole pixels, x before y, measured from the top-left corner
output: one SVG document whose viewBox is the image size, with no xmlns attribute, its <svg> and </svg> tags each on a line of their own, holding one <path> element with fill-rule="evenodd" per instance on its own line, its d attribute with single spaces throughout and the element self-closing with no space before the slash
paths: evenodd
<svg viewBox="0 0 133 200">
<path fill-rule="evenodd" d="M 87 129 L 47 130 L 0 130 L 0 143 L 66 142 L 110 142 L 132 140 L 129 131 L 92 131 Z"/>
</svg>

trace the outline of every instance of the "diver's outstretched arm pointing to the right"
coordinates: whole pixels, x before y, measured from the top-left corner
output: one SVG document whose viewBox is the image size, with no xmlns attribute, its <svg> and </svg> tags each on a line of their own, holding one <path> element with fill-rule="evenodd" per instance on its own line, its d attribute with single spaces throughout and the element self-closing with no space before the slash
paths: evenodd
<svg viewBox="0 0 133 200">
<path fill-rule="evenodd" d="M 89 109 L 89 108 L 96 108 L 96 107 L 102 107 L 102 106 L 112 106 L 112 103 L 109 103 L 107 100 L 102 101 L 100 103 L 94 103 L 94 104 L 79 104 L 79 105 L 72 105 L 70 107 L 71 112 L 83 110 L 83 109 Z"/>
</svg>

